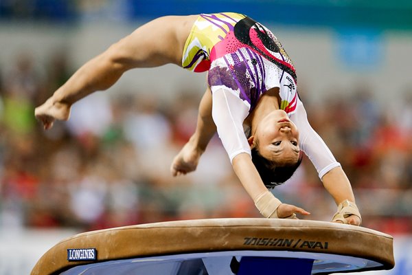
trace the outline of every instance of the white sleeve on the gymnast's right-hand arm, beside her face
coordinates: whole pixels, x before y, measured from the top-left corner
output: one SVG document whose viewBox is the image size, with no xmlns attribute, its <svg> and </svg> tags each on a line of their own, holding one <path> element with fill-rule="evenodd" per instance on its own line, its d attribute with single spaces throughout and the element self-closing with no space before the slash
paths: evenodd
<svg viewBox="0 0 412 275">
<path fill-rule="evenodd" d="M 322 138 L 310 126 L 304 104 L 300 100 L 297 102 L 295 113 L 290 115 L 290 120 L 296 124 L 299 130 L 299 146 L 301 150 L 309 157 L 320 179 L 332 168 L 341 166 L 339 162 L 336 162 L 332 152 L 323 142 Z"/>
</svg>

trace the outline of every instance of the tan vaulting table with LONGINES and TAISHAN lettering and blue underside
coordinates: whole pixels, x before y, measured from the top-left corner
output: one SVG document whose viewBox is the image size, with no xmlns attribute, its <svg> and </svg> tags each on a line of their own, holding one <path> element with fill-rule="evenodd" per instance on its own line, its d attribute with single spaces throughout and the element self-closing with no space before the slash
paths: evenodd
<svg viewBox="0 0 412 275">
<path fill-rule="evenodd" d="M 393 238 L 354 225 L 198 219 L 85 232 L 47 251 L 32 275 L 330 274 L 390 270 Z"/>
</svg>

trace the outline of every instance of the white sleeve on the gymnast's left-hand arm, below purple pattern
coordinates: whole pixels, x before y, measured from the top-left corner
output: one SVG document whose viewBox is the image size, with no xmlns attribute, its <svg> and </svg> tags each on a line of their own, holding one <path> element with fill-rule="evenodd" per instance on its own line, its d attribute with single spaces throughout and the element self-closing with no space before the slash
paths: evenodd
<svg viewBox="0 0 412 275">
<path fill-rule="evenodd" d="M 224 88 L 214 89 L 212 100 L 211 116 L 230 161 L 240 153 L 251 155 L 243 131 L 243 121 L 249 114 L 247 105 L 232 91 Z"/>
</svg>

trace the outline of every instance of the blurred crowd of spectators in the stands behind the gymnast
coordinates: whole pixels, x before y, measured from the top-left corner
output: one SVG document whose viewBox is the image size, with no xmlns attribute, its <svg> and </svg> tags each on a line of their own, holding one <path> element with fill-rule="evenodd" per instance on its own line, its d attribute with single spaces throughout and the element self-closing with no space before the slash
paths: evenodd
<svg viewBox="0 0 412 275">
<path fill-rule="evenodd" d="M 64 54 L 45 67 L 30 53 L 19 54 L 0 73 L 2 228 L 95 230 L 260 217 L 218 137 L 196 172 L 170 174 L 174 155 L 194 131 L 201 94 L 183 91 L 165 101 L 139 91 L 98 92 L 76 103 L 68 122 L 43 131 L 34 107 L 73 73 Z M 310 101 L 310 87 L 300 89 L 310 123 L 352 182 L 363 226 L 411 233 L 412 89 L 391 91 L 393 102 L 378 102 L 365 85 L 322 102 Z M 328 221 L 336 211 L 307 158 L 273 192 L 311 212 L 306 219 Z"/>
</svg>

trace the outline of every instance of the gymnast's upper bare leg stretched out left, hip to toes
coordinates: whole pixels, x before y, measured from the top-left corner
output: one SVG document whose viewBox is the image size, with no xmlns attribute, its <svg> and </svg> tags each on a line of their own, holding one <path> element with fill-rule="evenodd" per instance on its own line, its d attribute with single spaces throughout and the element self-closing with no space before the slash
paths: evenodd
<svg viewBox="0 0 412 275">
<path fill-rule="evenodd" d="M 85 63 L 43 105 L 36 108 L 45 129 L 54 120 L 67 120 L 71 105 L 93 93 L 108 89 L 129 69 L 181 65 L 183 47 L 197 15 L 161 17 L 137 28 Z"/>
</svg>

